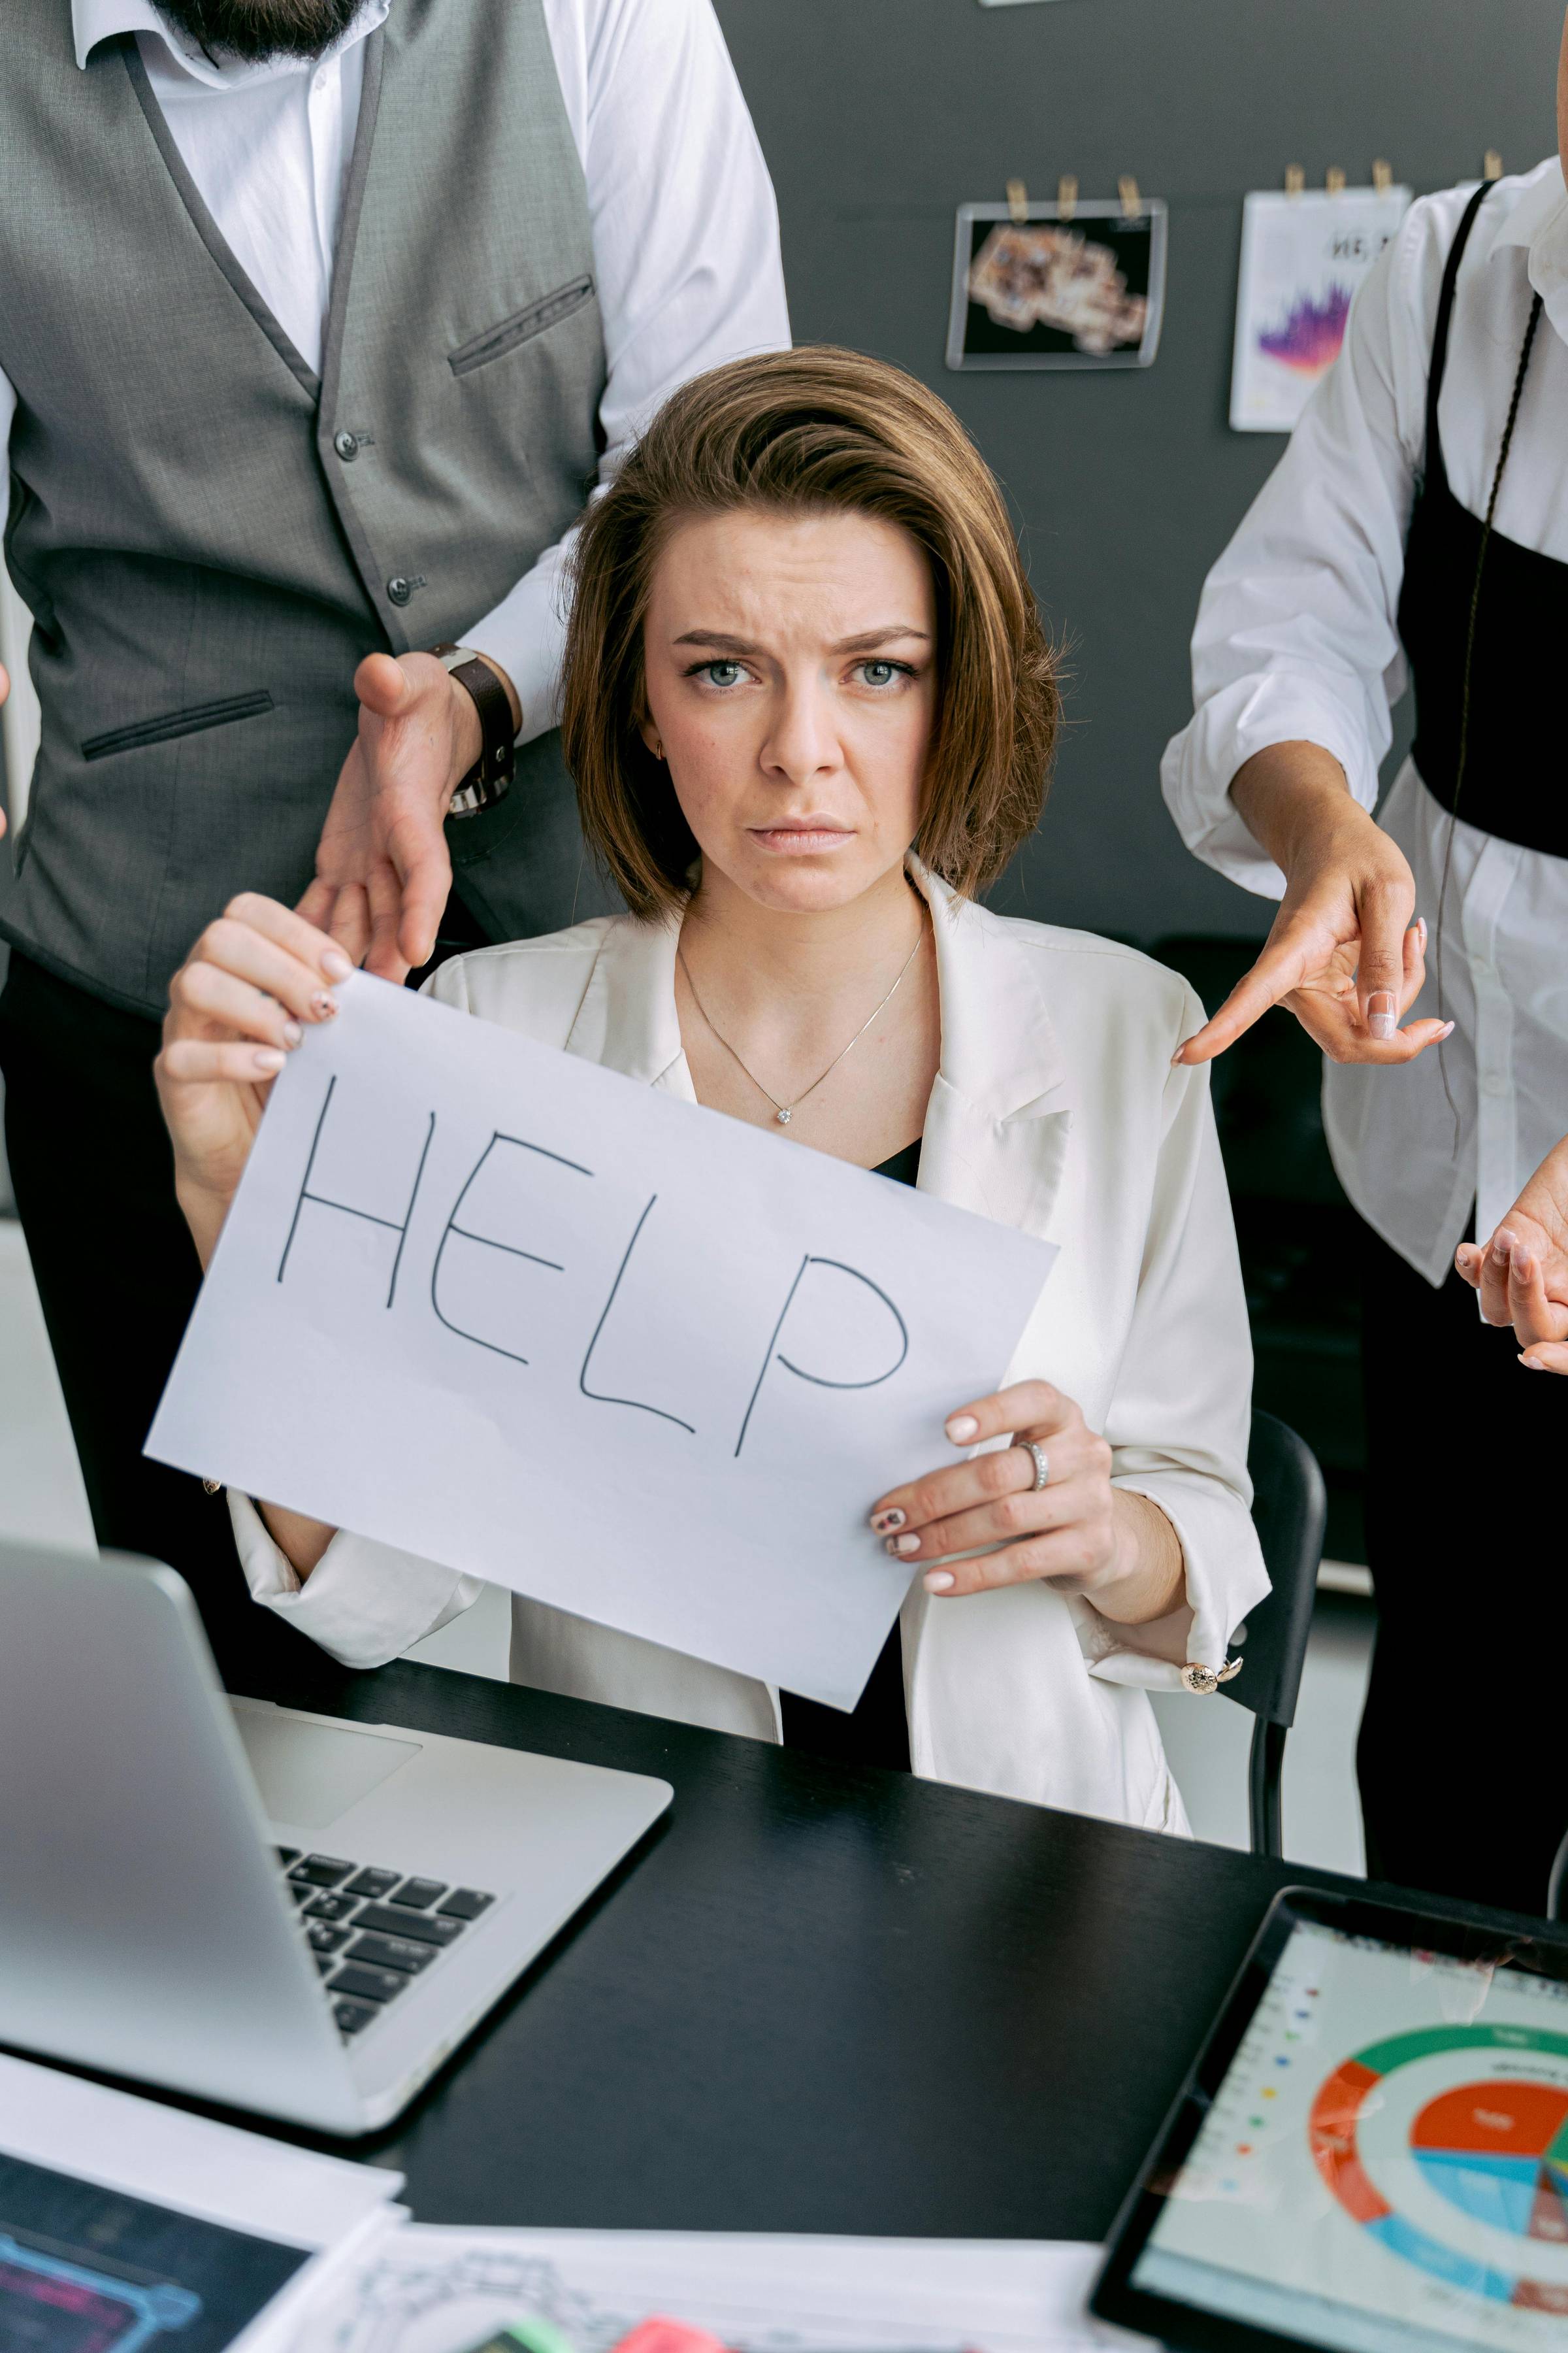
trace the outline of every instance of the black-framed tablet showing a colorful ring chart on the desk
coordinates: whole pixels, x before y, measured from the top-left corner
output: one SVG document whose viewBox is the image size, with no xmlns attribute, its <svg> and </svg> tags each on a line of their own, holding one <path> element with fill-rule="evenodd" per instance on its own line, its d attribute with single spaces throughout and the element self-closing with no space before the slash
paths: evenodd
<svg viewBox="0 0 1568 2353">
<path fill-rule="evenodd" d="M 1192 2346 L 1568 2348 L 1568 1946 L 1406 1944 L 1368 1918 L 1399 1920 L 1307 1899 L 1276 1925 L 1145 2179 L 1107 2318 L 1150 2325 L 1157 2299 Z"/>
</svg>

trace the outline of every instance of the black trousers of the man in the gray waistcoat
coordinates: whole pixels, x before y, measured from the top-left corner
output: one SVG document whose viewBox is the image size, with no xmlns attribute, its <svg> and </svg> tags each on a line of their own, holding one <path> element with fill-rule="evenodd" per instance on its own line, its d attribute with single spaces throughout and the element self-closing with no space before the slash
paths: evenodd
<svg viewBox="0 0 1568 2353">
<path fill-rule="evenodd" d="M 167 1560 L 233 1689 L 320 1659 L 244 1586 L 221 1494 L 146 1461 L 202 1271 L 153 1089 L 158 1024 L 12 955 L 0 995 L 5 1153 L 99 1544 Z"/>
</svg>

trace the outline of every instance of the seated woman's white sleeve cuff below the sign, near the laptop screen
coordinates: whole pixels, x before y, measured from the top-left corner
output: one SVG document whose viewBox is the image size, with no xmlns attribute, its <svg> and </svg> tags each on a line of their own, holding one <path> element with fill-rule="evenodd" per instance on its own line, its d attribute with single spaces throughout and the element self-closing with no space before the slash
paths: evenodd
<svg viewBox="0 0 1568 2353">
<path fill-rule="evenodd" d="M 228 1489 L 240 1567 L 252 1600 L 289 1619 L 343 1666 L 386 1666 L 414 1642 L 473 1609 L 482 1579 L 442 1569 L 343 1529 L 301 1584 L 247 1494 Z"/>
</svg>

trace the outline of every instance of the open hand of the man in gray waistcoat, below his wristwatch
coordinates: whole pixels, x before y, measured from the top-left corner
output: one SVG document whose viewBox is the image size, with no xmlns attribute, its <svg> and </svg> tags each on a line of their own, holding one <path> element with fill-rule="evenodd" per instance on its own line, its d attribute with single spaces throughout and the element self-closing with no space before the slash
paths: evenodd
<svg viewBox="0 0 1568 2353">
<path fill-rule="evenodd" d="M 496 668 L 496 664 L 491 664 Z M 501 685 L 517 696 L 501 668 Z M 473 696 L 435 654 L 367 654 L 355 671 L 360 734 L 336 781 L 306 922 L 367 972 L 402 981 L 435 953 L 451 889 L 442 824 L 482 751 Z"/>
</svg>

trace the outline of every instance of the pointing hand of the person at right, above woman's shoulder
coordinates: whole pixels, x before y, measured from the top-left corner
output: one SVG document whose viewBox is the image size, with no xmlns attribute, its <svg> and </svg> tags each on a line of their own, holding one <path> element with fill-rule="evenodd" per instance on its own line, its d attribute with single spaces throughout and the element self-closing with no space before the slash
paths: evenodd
<svg viewBox="0 0 1568 2353">
<path fill-rule="evenodd" d="M 1274 744 L 1237 774 L 1232 800 L 1286 875 L 1262 955 L 1175 1061 L 1211 1061 L 1286 1005 L 1331 1061 L 1401 1064 L 1453 1024 L 1401 1019 L 1427 976 L 1427 925 L 1403 852 L 1373 824 L 1316 744 Z"/>
</svg>

